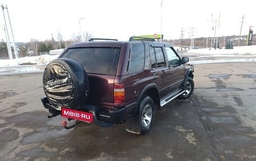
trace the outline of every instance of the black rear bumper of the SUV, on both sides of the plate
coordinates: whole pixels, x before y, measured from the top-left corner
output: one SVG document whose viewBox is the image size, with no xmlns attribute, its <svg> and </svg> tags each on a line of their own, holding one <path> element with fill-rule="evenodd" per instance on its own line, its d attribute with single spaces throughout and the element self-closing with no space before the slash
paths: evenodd
<svg viewBox="0 0 256 161">
<path fill-rule="evenodd" d="M 49 109 L 49 112 L 52 113 L 48 117 L 51 118 L 57 116 L 61 113 L 60 110 L 56 109 L 53 105 L 49 103 L 49 100 L 41 98 L 41 101 L 44 105 L 44 108 Z M 133 116 L 136 108 L 136 103 L 130 105 L 129 108 L 113 108 L 111 110 L 104 110 L 95 105 L 82 105 L 79 108 L 79 111 L 93 113 L 93 123 L 98 126 L 109 127 L 120 124 L 126 120 L 126 118 Z"/>
</svg>

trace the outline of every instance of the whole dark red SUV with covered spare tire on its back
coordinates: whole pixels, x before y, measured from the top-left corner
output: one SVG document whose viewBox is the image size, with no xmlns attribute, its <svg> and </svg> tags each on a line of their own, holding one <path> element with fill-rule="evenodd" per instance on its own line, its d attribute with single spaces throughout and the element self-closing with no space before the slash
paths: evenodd
<svg viewBox="0 0 256 161">
<path fill-rule="evenodd" d="M 169 43 L 131 37 L 129 42 L 91 39 L 70 45 L 45 68 L 42 98 L 52 118 L 61 114 L 108 127 L 126 123 L 126 130 L 145 134 L 155 109 L 193 93 L 189 58 L 180 58 Z M 70 124 L 70 123 L 69 123 Z"/>
</svg>

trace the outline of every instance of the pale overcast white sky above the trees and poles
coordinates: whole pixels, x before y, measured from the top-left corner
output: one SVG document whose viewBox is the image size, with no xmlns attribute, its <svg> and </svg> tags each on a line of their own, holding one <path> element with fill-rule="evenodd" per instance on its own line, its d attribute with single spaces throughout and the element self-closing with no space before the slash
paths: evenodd
<svg viewBox="0 0 256 161">
<path fill-rule="evenodd" d="M 241 35 L 248 35 L 249 26 L 256 29 L 252 0 L 2 0 L 1 3 L 8 7 L 15 42 L 43 41 L 52 36 L 57 40 L 58 32 L 64 40 L 70 40 L 80 29 L 89 31 L 94 38 L 129 40 L 132 35 L 161 34 L 161 29 L 164 39 L 179 39 L 182 27 L 183 38 L 190 38 L 194 27 L 197 38 L 214 36 L 212 26 L 215 27 L 216 20 L 216 36 L 239 35 L 243 14 Z M 12 42 L 6 10 L 4 13 Z M 3 11 L 0 15 L 0 39 L 6 42 Z"/>
</svg>

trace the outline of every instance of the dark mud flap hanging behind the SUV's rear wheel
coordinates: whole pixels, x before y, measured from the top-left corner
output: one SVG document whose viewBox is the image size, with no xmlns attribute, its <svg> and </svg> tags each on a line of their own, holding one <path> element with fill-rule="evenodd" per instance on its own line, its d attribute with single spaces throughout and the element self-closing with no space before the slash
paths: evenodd
<svg viewBox="0 0 256 161">
<path fill-rule="evenodd" d="M 126 119 L 125 125 L 126 125 L 126 131 L 134 134 L 141 133 L 140 121 L 138 116 Z"/>
</svg>

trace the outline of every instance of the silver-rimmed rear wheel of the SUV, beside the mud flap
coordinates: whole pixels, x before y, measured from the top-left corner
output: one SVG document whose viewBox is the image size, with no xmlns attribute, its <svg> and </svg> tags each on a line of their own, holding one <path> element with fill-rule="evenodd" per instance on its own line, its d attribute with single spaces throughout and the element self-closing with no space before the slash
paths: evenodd
<svg viewBox="0 0 256 161">
<path fill-rule="evenodd" d="M 145 96 L 140 102 L 140 134 L 144 135 L 149 132 L 154 121 L 154 102 L 149 96 Z"/>
</svg>

